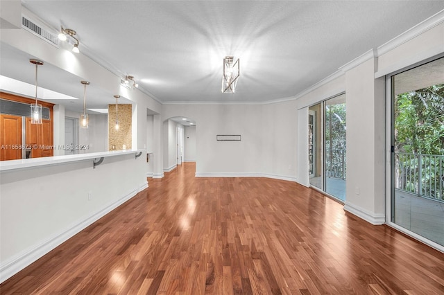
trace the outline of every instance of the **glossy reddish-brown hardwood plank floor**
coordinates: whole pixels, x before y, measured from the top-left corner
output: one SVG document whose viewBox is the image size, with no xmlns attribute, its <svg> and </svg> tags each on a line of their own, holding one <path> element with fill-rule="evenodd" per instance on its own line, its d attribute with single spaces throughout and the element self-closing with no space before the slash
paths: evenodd
<svg viewBox="0 0 444 295">
<path fill-rule="evenodd" d="M 444 294 L 444 254 L 289 181 L 184 163 L 0 294 Z"/>
</svg>

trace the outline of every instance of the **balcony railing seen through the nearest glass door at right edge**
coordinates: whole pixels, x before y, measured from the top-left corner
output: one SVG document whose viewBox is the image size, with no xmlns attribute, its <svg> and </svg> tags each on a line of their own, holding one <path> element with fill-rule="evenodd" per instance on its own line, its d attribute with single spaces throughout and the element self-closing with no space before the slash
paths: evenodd
<svg viewBox="0 0 444 295">
<path fill-rule="evenodd" d="M 395 152 L 395 188 L 444 202 L 444 156 Z"/>
</svg>

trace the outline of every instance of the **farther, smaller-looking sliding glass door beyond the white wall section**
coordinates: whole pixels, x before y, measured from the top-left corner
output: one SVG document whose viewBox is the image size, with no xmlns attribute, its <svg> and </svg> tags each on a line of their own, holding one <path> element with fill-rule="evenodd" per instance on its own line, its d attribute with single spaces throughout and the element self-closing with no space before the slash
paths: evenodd
<svg viewBox="0 0 444 295">
<path fill-rule="evenodd" d="M 345 201 L 345 94 L 309 107 L 310 185 Z"/>
</svg>

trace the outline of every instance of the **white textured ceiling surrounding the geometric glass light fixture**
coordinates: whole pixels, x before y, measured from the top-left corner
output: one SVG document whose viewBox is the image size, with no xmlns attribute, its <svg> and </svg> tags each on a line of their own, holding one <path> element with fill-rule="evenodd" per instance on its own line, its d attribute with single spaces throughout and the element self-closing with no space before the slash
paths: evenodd
<svg viewBox="0 0 444 295">
<path fill-rule="evenodd" d="M 23 1 L 80 51 L 161 102 L 296 96 L 444 9 L 444 1 Z M 222 60 L 239 57 L 234 94 Z"/>
</svg>

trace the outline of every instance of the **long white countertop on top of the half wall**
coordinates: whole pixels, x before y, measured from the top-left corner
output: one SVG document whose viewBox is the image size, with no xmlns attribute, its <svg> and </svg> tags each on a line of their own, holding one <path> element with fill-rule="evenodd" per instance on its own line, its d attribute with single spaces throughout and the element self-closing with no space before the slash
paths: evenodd
<svg viewBox="0 0 444 295">
<path fill-rule="evenodd" d="M 102 157 L 115 157 L 124 154 L 137 154 L 139 152 L 145 152 L 145 150 L 115 150 L 110 152 L 92 152 L 90 154 L 68 154 L 65 156 L 0 161 L 0 171 L 56 165 L 60 163 L 69 163 L 90 159 L 100 159 Z"/>
</svg>

